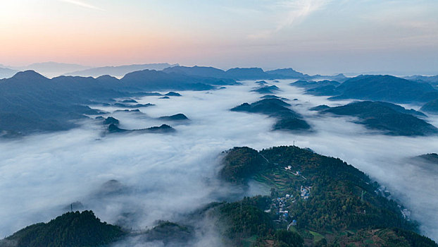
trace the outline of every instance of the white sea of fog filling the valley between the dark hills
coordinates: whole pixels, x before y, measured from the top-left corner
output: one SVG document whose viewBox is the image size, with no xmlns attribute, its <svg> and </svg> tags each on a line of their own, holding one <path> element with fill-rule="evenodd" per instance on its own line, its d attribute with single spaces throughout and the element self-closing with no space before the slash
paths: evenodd
<svg viewBox="0 0 438 247">
<path fill-rule="evenodd" d="M 301 89 L 288 85 L 292 80 L 268 82 L 282 90 L 276 95 L 290 100 L 292 109 L 311 124 L 313 133 L 270 131 L 275 119 L 230 112 L 232 107 L 263 96 L 251 92 L 257 86 L 254 81 L 245 81 L 221 90 L 182 91 L 182 97 L 167 100 L 142 97 L 136 100 L 156 105 L 140 108 L 141 113 L 104 115 L 119 119 L 120 128 L 167 123 L 175 133 L 104 135 L 101 121 L 88 120 L 82 128 L 71 131 L 0 140 L 0 237 L 61 215 L 70 210 L 71 203 L 77 209 L 94 210 L 103 221 L 145 229 L 158 219 L 178 220 L 215 200 L 267 193 L 256 184 L 243 191 L 218 181 L 220 153 L 234 146 L 260 150 L 295 143 L 339 157 L 387 186 L 393 198 L 422 224 L 424 234 L 438 240 L 438 167 L 415 164 L 410 159 L 437 152 L 436 137 L 382 135 L 349 118 L 319 116 L 308 109 L 349 101 L 304 95 Z M 106 112 L 120 109 L 92 107 Z M 190 121 L 156 119 L 177 113 Z M 438 119 L 429 121 L 438 125 Z"/>
</svg>

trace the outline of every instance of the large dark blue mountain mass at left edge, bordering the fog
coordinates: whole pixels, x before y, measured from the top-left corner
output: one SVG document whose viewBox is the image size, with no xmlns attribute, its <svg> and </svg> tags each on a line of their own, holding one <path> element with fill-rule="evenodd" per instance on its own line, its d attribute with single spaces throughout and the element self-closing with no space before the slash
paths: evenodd
<svg viewBox="0 0 438 247">
<path fill-rule="evenodd" d="M 70 120 L 97 114 L 85 106 L 87 95 L 120 97 L 123 94 L 94 88 L 71 90 L 69 83 L 54 83 L 35 71 L 19 72 L 12 78 L 0 80 L 0 131 L 28 133 L 58 131 L 73 128 Z M 73 87 L 74 88 L 74 87 Z M 83 92 L 79 94 L 76 92 Z"/>
</svg>

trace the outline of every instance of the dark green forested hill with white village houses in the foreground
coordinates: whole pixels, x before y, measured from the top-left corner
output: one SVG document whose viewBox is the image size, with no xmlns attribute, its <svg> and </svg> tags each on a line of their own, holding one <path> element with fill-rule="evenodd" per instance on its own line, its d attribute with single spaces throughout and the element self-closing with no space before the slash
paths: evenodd
<svg viewBox="0 0 438 247">
<path fill-rule="evenodd" d="M 437 246 L 409 212 L 341 159 L 295 146 L 234 147 L 220 176 L 270 186 L 265 197 L 218 206 L 235 243 L 253 246 Z"/>
</svg>

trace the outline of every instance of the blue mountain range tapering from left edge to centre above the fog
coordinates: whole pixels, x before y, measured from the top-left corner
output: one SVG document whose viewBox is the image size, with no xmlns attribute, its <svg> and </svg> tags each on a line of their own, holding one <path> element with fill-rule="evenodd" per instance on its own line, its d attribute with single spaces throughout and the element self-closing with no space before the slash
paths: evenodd
<svg viewBox="0 0 438 247">
<path fill-rule="evenodd" d="M 46 78 L 35 71 L 0 80 L 0 135 L 73 128 L 71 120 L 84 114 L 99 114 L 85 106 L 109 102 L 153 90 L 210 90 L 216 85 L 234 85 L 232 79 L 216 79 L 162 71 L 137 71 L 122 79 L 111 76 Z"/>
</svg>

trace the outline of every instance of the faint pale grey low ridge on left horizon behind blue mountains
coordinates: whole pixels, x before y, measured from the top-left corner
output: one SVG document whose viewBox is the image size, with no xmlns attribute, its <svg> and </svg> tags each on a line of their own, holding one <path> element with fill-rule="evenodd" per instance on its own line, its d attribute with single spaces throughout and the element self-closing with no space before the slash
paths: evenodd
<svg viewBox="0 0 438 247">
<path fill-rule="evenodd" d="M 85 70 L 74 71 L 70 73 L 65 73 L 65 76 L 125 76 L 127 73 L 131 73 L 134 71 L 143 71 L 145 69 L 161 71 L 164 68 L 177 66 L 177 64 L 131 64 L 131 65 L 123 65 L 123 66 L 104 66 L 97 68 L 88 68 Z"/>
</svg>

